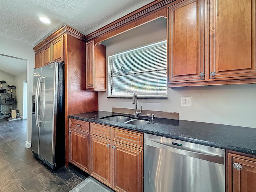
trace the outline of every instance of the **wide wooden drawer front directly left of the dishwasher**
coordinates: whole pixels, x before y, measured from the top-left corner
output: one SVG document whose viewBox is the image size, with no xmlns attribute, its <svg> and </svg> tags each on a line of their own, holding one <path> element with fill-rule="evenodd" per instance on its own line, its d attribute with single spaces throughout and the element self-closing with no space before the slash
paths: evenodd
<svg viewBox="0 0 256 192">
<path fill-rule="evenodd" d="M 112 140 L 143 149 L 143 134 L 141 133 L 114 128 Z"/>
</svg>

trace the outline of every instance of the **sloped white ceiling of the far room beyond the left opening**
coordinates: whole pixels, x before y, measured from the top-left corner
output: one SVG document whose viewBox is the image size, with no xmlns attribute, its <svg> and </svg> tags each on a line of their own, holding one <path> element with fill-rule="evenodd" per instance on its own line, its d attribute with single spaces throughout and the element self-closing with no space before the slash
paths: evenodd
<svg viewBox="0 0 256 192">
<path fill-rule="evenodd" d="M 27 61 L 0 54 L 0 70 L 16 76 L 27 71 Z"/>
</svg>

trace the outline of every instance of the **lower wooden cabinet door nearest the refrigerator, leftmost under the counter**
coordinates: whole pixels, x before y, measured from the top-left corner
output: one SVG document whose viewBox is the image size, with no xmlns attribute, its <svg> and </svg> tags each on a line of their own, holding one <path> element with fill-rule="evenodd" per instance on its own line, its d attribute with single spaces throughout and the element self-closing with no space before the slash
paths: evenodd
<svg viewBox="0 0 256 192">
<path fill-rule="evenodd" d="M 70 128 L 69 160 L 87 173 L 89 173 L 89 144 L 89 133 Z"/>
</svg>

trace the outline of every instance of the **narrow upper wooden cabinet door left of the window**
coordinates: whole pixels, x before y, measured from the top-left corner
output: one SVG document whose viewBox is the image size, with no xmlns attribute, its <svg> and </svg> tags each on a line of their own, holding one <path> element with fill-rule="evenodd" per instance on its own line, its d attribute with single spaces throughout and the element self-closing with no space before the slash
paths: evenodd
<svg viewBox="0 0 256 192">
<path fill-rule="evenodd" d="M 94 40 L 86 42 L 85 48 L 86 89 L 94 88 Z"/>
</svg>

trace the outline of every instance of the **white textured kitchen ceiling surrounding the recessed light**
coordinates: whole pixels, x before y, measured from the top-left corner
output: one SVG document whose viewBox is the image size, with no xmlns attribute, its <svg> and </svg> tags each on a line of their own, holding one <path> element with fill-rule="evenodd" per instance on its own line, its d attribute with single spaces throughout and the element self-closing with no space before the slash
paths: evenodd
<svg viewBox="0 0 256 192">
<path fill-rule="evenodd" d="M 152 1 L 0 0 L 0 36 L 34 46 L 64 24 L 87 35 Z"/>
</svg>

